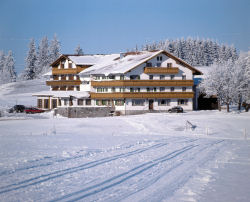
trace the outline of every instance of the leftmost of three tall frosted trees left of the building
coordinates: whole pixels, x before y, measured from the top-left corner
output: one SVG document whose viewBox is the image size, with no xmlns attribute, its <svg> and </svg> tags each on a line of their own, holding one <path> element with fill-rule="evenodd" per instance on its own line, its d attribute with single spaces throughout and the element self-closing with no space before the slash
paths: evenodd
<svg viewBox="0 0 250 202">
<path fill-rule="evenodd" d="M 36 57 L 35 40 L 31 39 L 30 44 L 29 44 L 29 50 L 27 53 L 26 61 L 25 61 L 26 67 L 21 76 L 23 80 L 31 80 L 35 78 L 36 60 L 37 60 L 37 57 Z"/>
</svg>

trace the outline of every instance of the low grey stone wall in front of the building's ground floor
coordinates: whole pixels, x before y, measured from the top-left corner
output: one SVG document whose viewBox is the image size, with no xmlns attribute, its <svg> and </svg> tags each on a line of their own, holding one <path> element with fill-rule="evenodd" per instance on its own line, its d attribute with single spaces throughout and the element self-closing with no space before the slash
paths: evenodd
<svg viewBox="0 0 250 202">
<path fill-rule="evenodd" d="M 112 111 L 112 107 L 60 107 L 55 109 L 55 115 L 60 114 L 68 118 L 104 117 L 110 116 Z"/>
</svg>

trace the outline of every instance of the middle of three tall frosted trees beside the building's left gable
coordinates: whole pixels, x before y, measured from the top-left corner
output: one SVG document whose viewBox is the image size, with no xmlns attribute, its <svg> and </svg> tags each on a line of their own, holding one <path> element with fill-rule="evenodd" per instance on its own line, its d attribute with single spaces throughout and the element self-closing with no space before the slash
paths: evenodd
<svg viewBox="0 0 250 202">
<path fill-rule="evenodd" d="M 37 78 L 41 77 L 44 73 L 49 71 L 50 59 L 49 59 L 49 43 L 48 38 L 42 38 L 38 51 L 37 62 L 35 67 L 35 75 Z"/>
</svg>

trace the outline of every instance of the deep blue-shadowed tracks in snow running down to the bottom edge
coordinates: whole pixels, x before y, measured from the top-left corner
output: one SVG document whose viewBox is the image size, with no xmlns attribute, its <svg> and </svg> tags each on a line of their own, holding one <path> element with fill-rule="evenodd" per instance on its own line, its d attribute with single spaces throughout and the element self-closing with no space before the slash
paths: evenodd
<svg viewBox="0 0 250 202">
<path fill-rule="evenodd" d="M 203 151 L 203 150 L 206 150 L 207 148 L 210 148 L 211 146 L 215 145 L 215 144 L 219 144 L 223 142 L 223 140 L 221 141 L 217 141 L 217 142 L 213 142 L 212 144 L 209 144 L 209 145 L 206 145 L 205 147 L 202 147 L 199 152 Z M 152 161 L 148 161 L 146 163 L 143 163 L 139 166 L 136 166 L 135 168 L 133 169 L 130 169 L 129 171 L 126 171 L 124 173 L 121 173 L 117 176 L 114 176 L 112 178 L 109 178 L 101 183 L 98 183 L 98 184 L 95 184 L 95 185 L 92 185 L 92 186 L 89 186 L 89 187 L 86 187 L 82 190 L 79 190 L 77 192 L 73 192 L 71 194 L 68 194 L 68 195 L 65 195 L 63 197 L 60 197 L 60 198 L 57 198 L 57 199 L 53 199 L 51 200 L 50 202 L 56 202 L 56 201 L 61 201 L 61 200 L 66 200 L 66 201 L 78 201 L 78 200 L 82 200 L 86 197 L 89 197 L 89 196 L 92 196 L 92 195 L 95 195 L 99 192 L 102 192 L 102 191 L 105 191 L 106 189 L 109 189 L 109 188 L 112 188 L 116 185 L 119 185 L 145 171 L 148 171 L 149 169 L 153 168 L 154 166 L 157 166 L 161 163 L 164 163 L 168 160 L 172 160 L 174 159 L 175 157 L 179 157 L 179 155 L 181 154 L 184 154 L 186 153 L 187 151 L 195 148 L 195 147 L 198 147 L 199 145 L 188 145 L 188 146 L 185 146 L 181 149 L 178 149 L 178 150 L 175 150 L 175 151 L 172 151 L 162 157 L 159 157 L 157 159 L 154 159 Z M 198 152 L 198 153 L 199 153 Z M 149 187 L 150 185 L 152 185 L 152 183 L 155 183 L 157 182 L 161 177 L 163 177 L 164 175 L 168 174 L 169 172 L 171 172 L 173 169 L 181 166 L 183 164 L 183 162 L 178 162 L 178 163 L 175 163 L 173 166 L 171 166 L 169 169 L 167 169 L 163 174 L 160 174 L 158 177 L 154 178 L 151 180 L 150 183 L 147 184 L 146 187 L 144 188 L 141 188 L 139 191 Z M 88 192 L 90 191 L 90 192 Z M 82 193 L 84 193 L 83 195 L 81 195 Z M 136 193 L 136 192 L 134 192 Z M 132 193 L 132 194 L 134 194 Z M 80 195 L 80 196 L 77 196 L 75 198 L 72 198 L 72 199 L 69 199 L 71 197 L 74 197 L 75 195 Z M 128 196 L 127 196 L 128 197 Z M 126 197 L 125 197 L 126 198 Z M 114 201 L 119 201 L 119 200 L 122 200 L 121 198 L 120 199 L 117 199 L 117 200 L 114 200 Z"/>
</svg>

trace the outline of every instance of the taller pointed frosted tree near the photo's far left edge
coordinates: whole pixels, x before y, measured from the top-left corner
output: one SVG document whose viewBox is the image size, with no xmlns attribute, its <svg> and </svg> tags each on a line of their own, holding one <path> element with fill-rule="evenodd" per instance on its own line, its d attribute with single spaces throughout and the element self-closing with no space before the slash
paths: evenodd
<svg viewBox="0 0 250 202">
<path fill-rule="evenodd" d="M 2 69 L 2 83 L 10 83 L 15 81 L 16 81 L 15 62 L 12 51 L 9 51 L 8 55 L 5 57 Z"/>
</svg>

